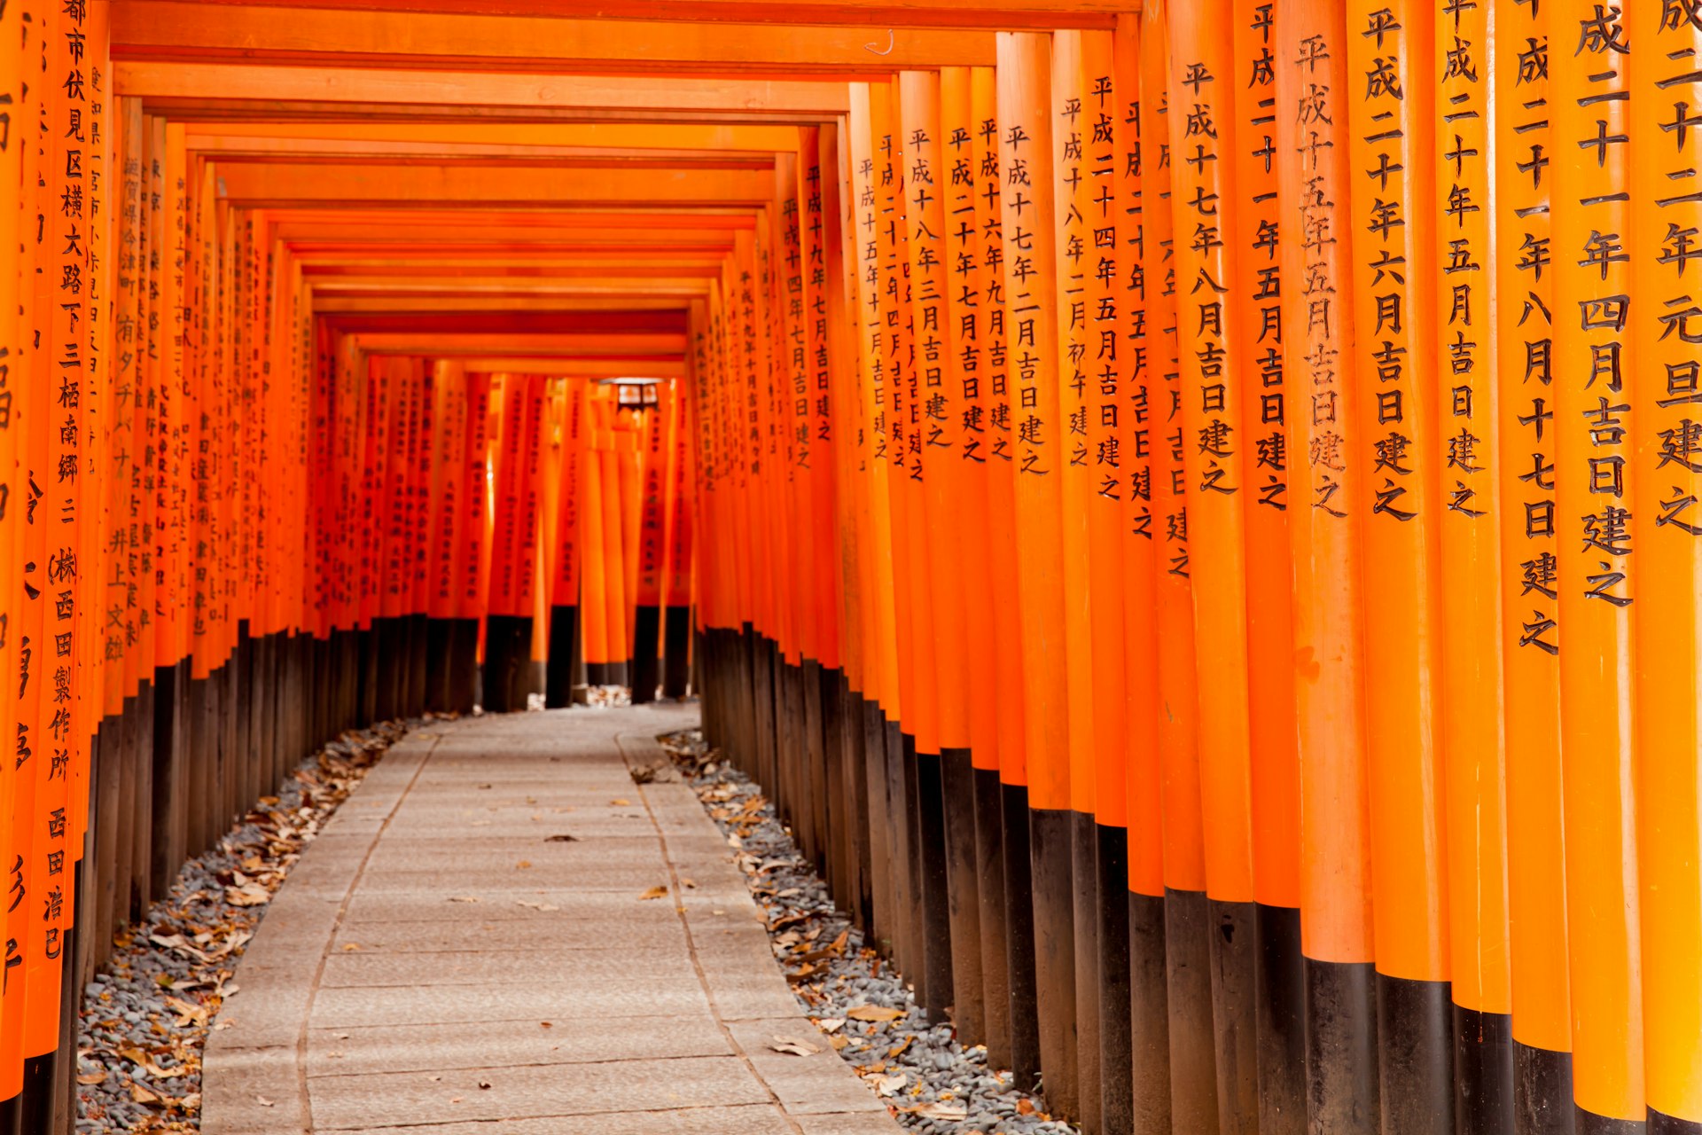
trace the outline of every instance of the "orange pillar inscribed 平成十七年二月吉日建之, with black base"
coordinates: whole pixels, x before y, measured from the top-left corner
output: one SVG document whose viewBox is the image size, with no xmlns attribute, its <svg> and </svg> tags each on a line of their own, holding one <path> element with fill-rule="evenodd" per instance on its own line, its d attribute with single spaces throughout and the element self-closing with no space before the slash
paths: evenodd
<svg viewBox="0 0 1702 1135">
<path fill-rule="evenodd" d="M 1074 912 L 1069 834 L 1069 664 L 1064 642 L 1060 478 L 1065 454 L 1057 390 L 1055 213 L 1050 165 L 1050 44 L 999 34 L 999 199 L 1009 323 L 1009 414 L 1016 475 L 1035 990 L 1040 1072 L 1048 1099 L 1077 1115 Z"/>
</svg>

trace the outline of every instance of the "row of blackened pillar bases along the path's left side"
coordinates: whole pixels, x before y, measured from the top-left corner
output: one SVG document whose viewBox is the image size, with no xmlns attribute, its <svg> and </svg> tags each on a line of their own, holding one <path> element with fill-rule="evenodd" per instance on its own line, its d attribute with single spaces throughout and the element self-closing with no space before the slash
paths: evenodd
<svg viewBox="0 0 1702 1135">
<path fill-rule="evenodd" d="M 75 873 L 60 1045 L 26 1053 L 24 1091 L 0 1101 L 0 1135 L 70 1135 L 77 1115 L 77 1009 L 112 936 L 145 917 L 186 859 L 230 830 L 296 762 L 349 728 L 466 713 L 477 619 L 402 616 L 368 630 L 250 635 L 223 665 L 157 667 L 92 742 L 89 836 Z"/>
</svg>

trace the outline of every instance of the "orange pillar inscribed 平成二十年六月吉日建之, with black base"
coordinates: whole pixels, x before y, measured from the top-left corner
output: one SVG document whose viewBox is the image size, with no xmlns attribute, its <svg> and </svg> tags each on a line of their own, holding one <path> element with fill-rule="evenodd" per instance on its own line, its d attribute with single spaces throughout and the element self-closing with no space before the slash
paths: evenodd
<svg viewBox="0 0 1702 1135">
<path fill-rule="evenodd" d="M 1445 807 L 1438 531 L 1443 442 L 1438 383 L 1425 381 L 1423 344 L 1436 342 L 1436 87 L 1430 82 L 1435 14 L 1428 3 L 1348 3 L 1348 73 L 1368 75 L 1350 102 L 1355 168 L 1353 294 L 1356 410 L 1367 449 L 1370 516 L 1365 573 L 1401 602 L 1365 602 L 1365 711 L 1372 769 L 1372 904 L 1377 927 L 1379 1075 L 1391 1123 L 1442 1130 L 1454 1106 L 1448 1021 Z M 1370 32 L 1370 34 L 1365 34 Z M 1379 114 L 1392 114 L 1379 119 Z M 1472 208 L 1469 202 L 1460 208 Z M 1394 271 L 1391 271 L 1394 269 Z M 1454 281 L 1450 281 L 1454 282 Z M 1460 431 L 1464 429 L 1464 436 Z M 1476 434 L 1452 419 L 1447 451 Z"/>
</svg>

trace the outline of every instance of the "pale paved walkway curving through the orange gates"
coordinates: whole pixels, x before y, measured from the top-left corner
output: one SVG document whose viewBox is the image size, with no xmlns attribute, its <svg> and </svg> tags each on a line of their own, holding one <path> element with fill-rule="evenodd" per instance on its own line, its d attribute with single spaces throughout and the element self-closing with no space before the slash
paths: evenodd
<svg viewBox="0 0 1702 1135">
<path fill-rule="evenodd" d="M 516 713 L 395 745 L 248 944 L 201 1130 L 899 1132 L 800 1014 L 693 791 L 630 776 L 694 721 Z"/>
</svg>

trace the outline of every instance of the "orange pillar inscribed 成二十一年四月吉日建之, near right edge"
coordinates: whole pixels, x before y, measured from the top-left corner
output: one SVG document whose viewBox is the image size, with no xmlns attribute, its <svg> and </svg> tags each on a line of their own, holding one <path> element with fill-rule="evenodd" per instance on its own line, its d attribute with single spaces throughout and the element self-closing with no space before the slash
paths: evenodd
<svg viewBox="0 0 1702 1135">
<path fill-rule="evenodd" d="M 1663 209 L 1644 201 L 1632 208 L 1632 162 L 1649 158 L 1634 158 L 1629 145 L 1631 102 L 1639 92 L 1632 90 L 1631 29 L 1622 19 L 1620 9 L 1598 10 L 1576 0 L 1549 10 L 1551 34 L 1568 32 L 1571 58 L 1549 70 L 1554 505 L 1535 524 L 1552 528 L 1557 558 L 1552 587 L 1559 626 L 1545 638 L 1561 643 L 1573 1098 L 1581 1130 L 1610 1123 L 1629 1132 L 1641 1130 L 1648 1118 L 1636 616 L 1666 614 L 1644 606 L 1649 573 L 1636 553 L 1648 546 L 1637 539 L 1648 529 L 1636 516 L 1644 487 L 1637 483 L 1632 434 L 1649 429 L 1636 417 L 1639 378 L 1665 368 L 1644 369 L 1637 340 L 1654 345 L 1658 332 L 1634 339 L 1631 318 L 1637 313 L 1644 327 L 1658 327 L 1658 311 L 1668 310 L 1658 305 L 1673 296 L 1631 296 L 1634 214 Z M 1654 44 L 1637 48 L 1653 53 Z M 1659 143 L 1651 143 L 1666 158 Z M 1668 163 L 1648 167 L 1651 189 L 1654 168 L 1666 170 Z M 1661 185 L 1663 197 L 1675 192 L 1683 191 Z M 1639 262 L 1656 255 L 1653 248 L 1639 250 Z M 1641 317 L 1642 303 L 1656 311 Z M 1658 390 L 1649 393 L 1661 396 Z M 1659 410 L 1653 400 L 1644 405 L 1649 417 Z"/>
</svg>

